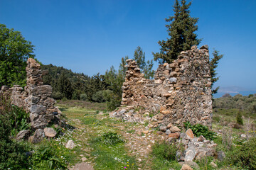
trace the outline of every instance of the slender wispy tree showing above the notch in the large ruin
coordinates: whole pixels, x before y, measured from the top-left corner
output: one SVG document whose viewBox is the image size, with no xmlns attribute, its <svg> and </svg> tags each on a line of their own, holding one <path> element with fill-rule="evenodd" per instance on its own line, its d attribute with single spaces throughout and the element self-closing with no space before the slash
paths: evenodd
<svg viewBox="0 0 256 170">
<path fill-rule="evenodd" d="M 153 60 L 145 62 L 145 52 L 143 52 L 141 47 L 138 46 L 134 51 L 133 60 L 135 60 L 138 67 L 142 69 L 142 73 L 144 73 L 146 79 L 152 79 L 154 77 L 154 70 L 152 70 Z"/>
</svg>

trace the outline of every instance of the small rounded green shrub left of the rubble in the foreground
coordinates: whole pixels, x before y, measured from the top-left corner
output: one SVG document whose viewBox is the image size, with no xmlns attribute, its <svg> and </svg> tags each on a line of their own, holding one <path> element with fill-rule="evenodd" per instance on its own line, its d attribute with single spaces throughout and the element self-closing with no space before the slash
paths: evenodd
<svg viewBox="0 0 256 170">
<path fill-rule="evenodd" d="M 176 159 L 177 147 L 175 144 L 169 145 L 166 142 L 156 142 L 152 147 L 152 154 L 158 159 L 166 159 L 169 161 L 174 161 Z"/>
</svg>

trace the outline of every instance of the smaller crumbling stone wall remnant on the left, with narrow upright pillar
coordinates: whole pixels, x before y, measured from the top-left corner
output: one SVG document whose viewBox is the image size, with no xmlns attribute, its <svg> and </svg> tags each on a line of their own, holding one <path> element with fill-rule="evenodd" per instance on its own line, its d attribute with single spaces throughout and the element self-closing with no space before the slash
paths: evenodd
<svg viewBox="0 0 256 170">
<path fill-rule="evenodd" d="M 50 97 L 53 89 L 50 85 L 43 85 L 42 76 L 47 71 L 43 71 L 40 64 L 32 58 L 28 58 L 27 64 L 24 90 L 18 85 L 11 88 L 2 86 L 0 97 L 11 99 L 12 104 L 30 113 L 31 127 L 34 130 L 46 128 L 48 123 L 60 125 L 61 112 L 54 106 L 55 100 Z"/>
</svg>

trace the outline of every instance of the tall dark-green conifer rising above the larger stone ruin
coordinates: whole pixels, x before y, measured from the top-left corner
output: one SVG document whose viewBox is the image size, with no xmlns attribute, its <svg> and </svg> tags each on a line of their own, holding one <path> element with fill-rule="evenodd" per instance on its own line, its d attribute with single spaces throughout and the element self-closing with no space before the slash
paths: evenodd
<svg viewBox="0 0 256 170">
<path fill-rule="evenodd" d="M 189 6 L 191 6 L 191 2 L 186 4 L 186 0 L 176 0 L 174 16 L 166 18 L 166 22 L 171 22 L 166 25 L 170 38 L 159 41 L 160 52 L 153 52 L 154 60 L 160 64 L 171 63 L 176 60 L 181 51 L 190 50 L 193 45 L 198 45 L 201 42 L 201 39 L 198 39 L 194 33 L 198 30 L 198 26 L 196 26 L 198 18 L 190 16 Z"/>
</svg>

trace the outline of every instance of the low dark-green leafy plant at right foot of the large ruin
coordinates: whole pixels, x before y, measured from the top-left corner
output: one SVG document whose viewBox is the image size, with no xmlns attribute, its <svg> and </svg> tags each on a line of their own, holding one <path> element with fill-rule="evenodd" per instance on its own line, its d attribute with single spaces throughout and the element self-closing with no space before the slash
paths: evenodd
<svg viewBox="0 0 256 170">
<path fill-rule="evenodd" d="M 207 140 L 214 140 L 216 137 L 216 133 L 209 130 L 209 128 L 205 125 L 191 125 L 191 123 L 189 123 L 188 121 L 183 124 L 186 129 L 191 128 L 193 134 L 196 135 L 196 137 L 203 135 L 203 137 L 206 137 Z"/>
</svg>

